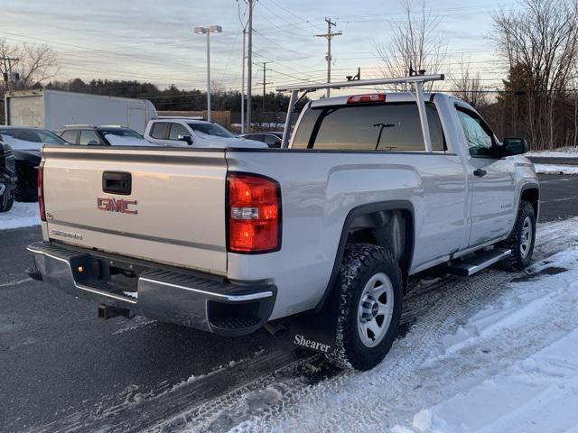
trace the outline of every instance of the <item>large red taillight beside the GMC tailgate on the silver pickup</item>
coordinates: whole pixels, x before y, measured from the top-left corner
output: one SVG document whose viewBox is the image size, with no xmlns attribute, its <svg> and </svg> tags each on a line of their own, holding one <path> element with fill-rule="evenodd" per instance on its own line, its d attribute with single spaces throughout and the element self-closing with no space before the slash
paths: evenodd
<svg viewBox="0 0 578 433">
<path fill-rule="evenodd" d="M 281 246 L 281 191 L 270 178 L 228 173 L 228 251 L 267 253 Z"/>
</svg>

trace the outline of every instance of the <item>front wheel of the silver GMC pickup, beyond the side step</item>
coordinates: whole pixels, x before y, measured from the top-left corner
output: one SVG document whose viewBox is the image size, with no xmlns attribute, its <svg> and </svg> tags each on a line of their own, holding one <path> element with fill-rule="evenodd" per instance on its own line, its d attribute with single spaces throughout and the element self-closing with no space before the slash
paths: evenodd
<svg viewBox="0 0 578 433">
<path fill-rule="evenodd" d="M 531 233 L 527 238 L 527 227 Z M 512 254 L 499 262 L 499 268 L 505 271 L 521 271 L 532 262 L 534 244 L 536 243 L 536 213 L 531 203 L 522 201 L 517 210 L 516 224 L 512 233 L 497 246 L 512 250 Z M 526 244 L 526 246 L 524 246 Z"/>
</svg>

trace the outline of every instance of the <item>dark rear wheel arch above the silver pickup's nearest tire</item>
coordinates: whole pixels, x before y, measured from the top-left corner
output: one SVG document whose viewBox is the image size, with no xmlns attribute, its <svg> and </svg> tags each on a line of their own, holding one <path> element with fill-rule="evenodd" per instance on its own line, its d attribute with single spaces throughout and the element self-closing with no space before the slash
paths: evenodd
<svg viewBox="0 0 578 433">
<path fill-rule="evenodd" d="M 406 278 L 407 272 L 409 272 L 409 269 L 411 268 L 415 249 L 415 210 L 412 202 L 409 200 L 390 200 L 354 207 L 350 210 L 347 217 L 345 217 L 343 228 L 341 229 L 340 241 L 335 254 L 335 261 L 333 262 L 333 268 L 331 270 L 330 280 L 325 292 L 323 293 L 322 299 L 320 299 L 314 309 L 315 312 L 321 311 L 327 303 L 327 300 L 330 298 L 331 291 L 333 290 L 338 277 L 345 247 L 348 243 L 353 242 L 351 241 L 350 235 L 356 232 L 367 233 L 367 231 L 385 229 L 388 223 L 399 221 L 398 217 L 394 216 L 401 216 L 404 223 L 403 248 L 401 251 L 394 252 L 394 255 L 399 261 L 399 266 L 404 273 L 404 278 Z M 399 226 L 396 225 L 397 223 L 394 222 L 391 228 L 399 228 Z M 399 235 L 399 232 L 397 232 L 396 235 Z M 385 233 L 381 234 L 380 237 L 381 239 L 374 239 L 373 242 L 368 243 L 390 248 L 390 244 L 384 244 L 384 239 L 387 241 L 392 240 L 387 237 L 387 230 Z"/>
</svg>

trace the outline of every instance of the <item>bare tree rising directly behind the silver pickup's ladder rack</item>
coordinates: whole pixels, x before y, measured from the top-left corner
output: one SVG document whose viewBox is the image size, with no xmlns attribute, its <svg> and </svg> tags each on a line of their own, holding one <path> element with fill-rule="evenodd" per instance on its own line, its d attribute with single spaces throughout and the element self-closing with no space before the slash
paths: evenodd
<svg viewBox="0 0 578 433">
<path fill-rule="evenodd" d="M 421 12 L 412 11 L 409 0 L 402 0 L 405 18 L 392 23 L 391 41 L 376 45 L 378 58 L 383 61 L 380 68 L 385 77 L 403 77 L 414 70 L 426 70 L 429 73 L 440 72 L 447 57 L 447 42 L 438 27 L 440 19 L 426 11 L 422 4 Z M 427 89 L 432 88 L 429 83 Z"/>
</svg>

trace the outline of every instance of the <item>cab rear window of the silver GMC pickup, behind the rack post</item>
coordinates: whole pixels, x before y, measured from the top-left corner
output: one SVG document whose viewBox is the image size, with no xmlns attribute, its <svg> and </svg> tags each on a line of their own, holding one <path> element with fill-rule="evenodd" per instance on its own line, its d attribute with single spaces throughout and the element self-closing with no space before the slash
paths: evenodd
<svg viewBox="0 0 578 433">
<path fill-rule="evenodd" d="M 433 151 L 445 151 L 442 123 L 433 103 L 425 110 Z M 294 149 L 424 151 L 414 102 L 310 108 L 295 133 Z"/>
</svg>

